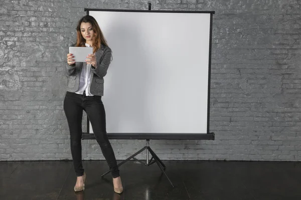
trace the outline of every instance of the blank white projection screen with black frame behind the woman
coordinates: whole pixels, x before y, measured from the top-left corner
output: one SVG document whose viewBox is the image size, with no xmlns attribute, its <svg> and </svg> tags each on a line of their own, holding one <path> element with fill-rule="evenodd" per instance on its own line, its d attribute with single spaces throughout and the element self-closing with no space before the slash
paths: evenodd
<svg viewBox="0 0 301 200">
<path fill-rule="evenodd" d="M 214 11 L 85 10 L 112 49 L 102 96 L 108 136 L 214 139 L 209 132 Z M 94 138 L 87 121 L 83 138 Z"/>
</svg>

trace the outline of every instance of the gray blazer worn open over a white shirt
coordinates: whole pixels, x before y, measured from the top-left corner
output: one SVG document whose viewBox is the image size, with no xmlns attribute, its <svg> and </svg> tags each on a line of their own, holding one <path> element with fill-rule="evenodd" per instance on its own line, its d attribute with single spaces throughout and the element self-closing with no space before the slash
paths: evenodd
<svg viewBox="0 0 301 200">
<path fill-rule="evenodd" d="M 91 83 L 90 93 L 93 95 L 103 96 L 103 76 L 106 75 L 107 69 L 111 62 L 112 50 L 110 47 L 101 44 L 100 48 L 95 52 L 97 67 L 91 66 Z M 75 92 L 79 88 L 79 78 L 82 70 L 83 62 L 75 62 L 72 66 L 68 63 L 67 69 L 67 91 Z"/>
</svg>

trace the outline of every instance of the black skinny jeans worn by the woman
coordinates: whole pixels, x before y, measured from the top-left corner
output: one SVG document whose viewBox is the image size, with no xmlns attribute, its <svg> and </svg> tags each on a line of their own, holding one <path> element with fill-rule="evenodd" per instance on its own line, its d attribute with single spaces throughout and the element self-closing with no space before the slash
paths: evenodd
<svg viewBox="0 0 301 200">
<path fill-rule="evenodd" d="M 117 161 L 106 134 L 105 110 L 101 96 L 86 96 L 85 92 L 84 94 L 77 94 L 67 91 L 64 99 L 64 111 L 70 131 L 71 154 L 76 175 L 82 176 L 84 174 L 81 146 L 83 110 L 89 117 L 96 141 L 100 145 L 112 176 L 118 177 Z"/>
</svg>

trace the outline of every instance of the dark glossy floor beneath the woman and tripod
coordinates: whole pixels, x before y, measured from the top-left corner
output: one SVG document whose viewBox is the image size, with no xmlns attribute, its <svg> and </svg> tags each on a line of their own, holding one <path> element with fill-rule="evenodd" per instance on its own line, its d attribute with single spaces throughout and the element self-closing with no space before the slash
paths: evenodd
<svg viewBox="0 0 301 200">
<path fill-rule="evenodd" d="M 105 160 L 83 161 L 84 192 L 74 192 L 72 161 L 0 162 L 0 199 L 22 200 L 185 200 L 185 199 L 301 199 L 301 162 L 165 161 L 158 165 L 128 161 L 120 166 L 124 186 L 114 193 Z"/>
</svg>

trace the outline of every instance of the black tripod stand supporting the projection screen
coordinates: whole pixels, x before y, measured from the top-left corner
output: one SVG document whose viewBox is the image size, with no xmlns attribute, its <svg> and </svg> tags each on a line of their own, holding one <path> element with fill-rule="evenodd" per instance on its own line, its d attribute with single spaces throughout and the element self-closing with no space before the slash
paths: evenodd
<svg viewBox="0 0 301 200">
<path fill-rule="evenodd" d="M 139 160 L 137 158 L 135 158 L 135 156 L 137 154 L 139 154 L 140 152 L 142 152 L 143 150 L 146 149 L 146 162 Z M 149 153 L 152 155 L 152 158 L 149 159 Z M 149 147 L 149 139 L 146 139 L 146 146 L 144 146 L 143 148 L 141 148 L 140 150 L 138 150 L 137 152 L 135 152 L 133 155 L 129 156 L 128 158 L 126 158 L 125 160 L 121 161 L 118 166 L 124 164 L 126 161 L 130 160 L 131 158 L 133 158 L 134 160 L 149 166 L 151 164 L 154 164 L 155 162 L 158 164 L 159 168 L 161 169 L 161 171 L 165 174 L 165 176 L 167 177 L 167 179 L 169 180 L 169 182 L 172 184 L 172 186 L 174 187 L 172 181 L 169 179 L 169 177 L 167 176 L 167 174 L 165 173 L 165 169 L 166 166 L 165 164 L 162 162 L 162 160 L 156 155 L 156 153 L 153 151 L 152 148 Z M 153 160 L 154 159 L 154 160 Z M 110 172 L 110 170 L 108 170 L 107 172 L 103 173 L 101 176 L 104 176 L 106 174 L 108 174 Z"/>
</svg>

